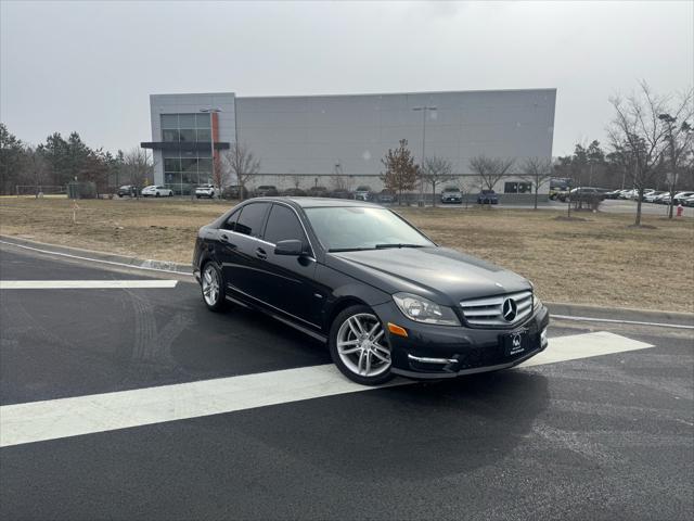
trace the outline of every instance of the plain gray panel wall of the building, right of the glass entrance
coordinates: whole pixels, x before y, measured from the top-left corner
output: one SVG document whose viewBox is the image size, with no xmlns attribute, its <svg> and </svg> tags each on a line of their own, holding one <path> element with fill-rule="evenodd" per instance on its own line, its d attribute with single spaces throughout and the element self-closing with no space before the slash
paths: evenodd
<svg viewBox="0 0 694 521">
<path fill-rule="evenodd" d="M 239 139 L 261 160 L 267 175 L 377 176 L 381 158 L 402 138 L 420 161 L 423 112 L 426 155 L 448 158 L 455 174 L 468 161 L 550 158 L 555 89 L 368 96 L 236 98 Z"/>
</svg>

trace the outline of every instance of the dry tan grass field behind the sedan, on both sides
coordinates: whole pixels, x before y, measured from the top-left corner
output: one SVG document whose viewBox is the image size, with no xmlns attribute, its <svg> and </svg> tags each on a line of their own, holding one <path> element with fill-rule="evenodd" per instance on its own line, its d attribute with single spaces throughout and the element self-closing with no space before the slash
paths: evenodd
<svg viewBox="0 0 694 521">
<path fill-rule="evenodd" d="M 188 263 L 196 230 L 228 202 L 0 199 L 0 233 Z M 694 312 L 694 220 L 503 208 L 395 208 L 441 245 L 517 271 L 551 302 Z M 562 214 L 563 215 L 563 214 Z"/>
</svg>

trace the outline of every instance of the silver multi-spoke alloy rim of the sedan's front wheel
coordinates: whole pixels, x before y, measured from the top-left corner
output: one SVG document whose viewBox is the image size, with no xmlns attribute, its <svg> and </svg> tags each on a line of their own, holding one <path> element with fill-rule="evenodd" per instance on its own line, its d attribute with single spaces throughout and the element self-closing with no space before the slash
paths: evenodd
<svg viewBox="0 0 694 521">
<path fill-rule="evenodd" d="M 373 378 L 390 368 L 390 348 L 375 315 L 359 313 L 347 317 L 339 326 L 336 340 L 342 363 L 355 374 Z"/>
</svg>

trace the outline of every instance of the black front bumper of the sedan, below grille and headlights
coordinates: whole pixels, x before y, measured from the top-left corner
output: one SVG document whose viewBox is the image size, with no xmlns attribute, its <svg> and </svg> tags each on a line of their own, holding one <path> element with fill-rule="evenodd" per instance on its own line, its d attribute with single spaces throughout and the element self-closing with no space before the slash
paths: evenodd
<svg viewBox="0 0 694 521">
<path fill-rule="evenodd" d="M 391 322 L 407 330 L 407 338 L 389 332 L 387 334 L 393 360 L 391 370 L 408 378 L 454 378 L 507 369 L 537 355 L 548 345 L 547 327 L 550 315 L 544 306 L 513 329 L 420 323 L 406 318 L 391 302 L 375 306 L 374 312 L 383 323 Z M 500 335 L 520 330 L 527 334 L 526 348 L 507 356 Z"/>
</svg>

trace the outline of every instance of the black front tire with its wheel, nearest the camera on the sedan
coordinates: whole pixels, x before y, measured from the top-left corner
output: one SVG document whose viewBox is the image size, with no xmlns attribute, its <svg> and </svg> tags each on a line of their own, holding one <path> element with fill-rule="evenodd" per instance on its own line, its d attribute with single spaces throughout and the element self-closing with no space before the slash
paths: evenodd
<svg viewBox="0 0 694 521">
<path fill-rule="evenodd" d="M 352 382 L 381 385 L 394 377 L 385 328 L 369 306 L 343 309 L 331 325 L 327 345 L 337 369 Z"/>
</svg>

